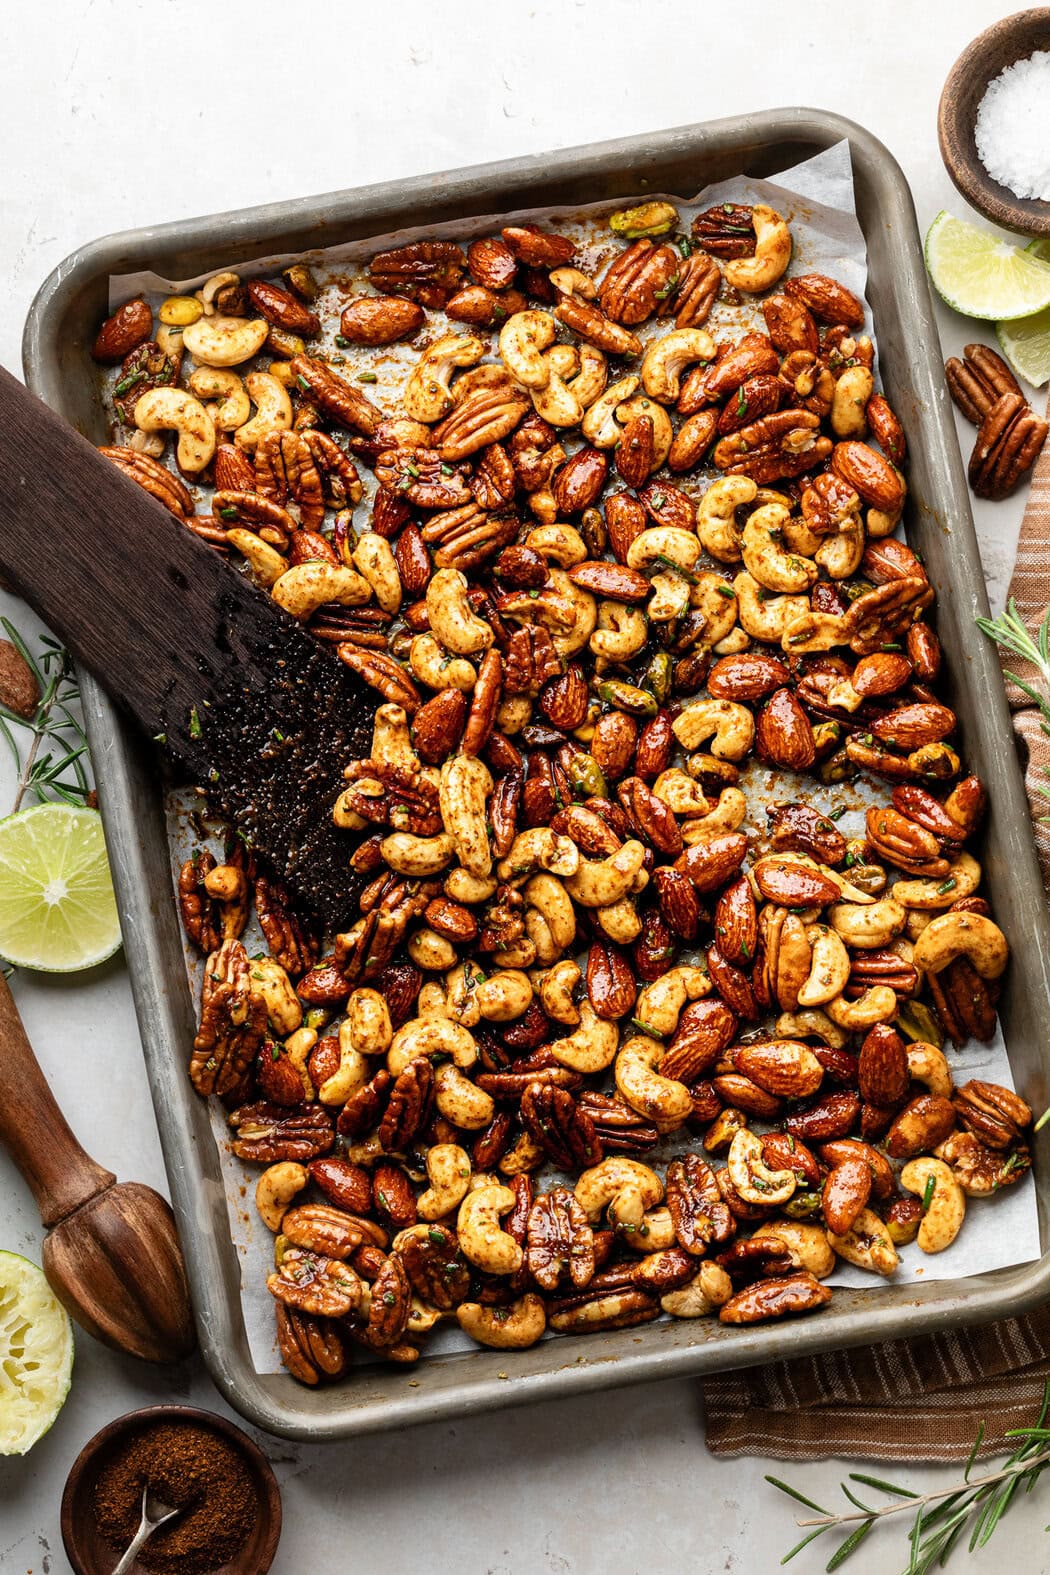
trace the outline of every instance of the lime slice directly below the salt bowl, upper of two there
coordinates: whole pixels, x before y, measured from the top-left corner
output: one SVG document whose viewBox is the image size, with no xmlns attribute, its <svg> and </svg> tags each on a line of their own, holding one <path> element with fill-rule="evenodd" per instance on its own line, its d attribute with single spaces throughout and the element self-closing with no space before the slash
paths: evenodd
<svg viewBox="0 0 1050 1575">
<path fill-rule="evenodd" d="M 926 268 L 965 317 L 1007 321 L 1050 307 L 1050 265 L 945 209 L 926 232 Z"/>
</svg>

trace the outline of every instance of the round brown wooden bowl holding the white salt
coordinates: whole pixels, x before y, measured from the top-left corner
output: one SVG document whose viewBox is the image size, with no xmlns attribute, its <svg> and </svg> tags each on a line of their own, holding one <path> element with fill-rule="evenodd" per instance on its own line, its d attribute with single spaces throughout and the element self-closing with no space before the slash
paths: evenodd
<svg viewBox="0 0 1050 1575">
<path fill-rule="evenodd" d="M 945 169 L 971 208 L 992 224 L 1020 235 L 1050 235 L 1050 202 L 1015 197 L 1000 186 L 978 156 L 974 126 L 989 82 L 1037 49 L 1050 50 L 1050 9 L 1017 11 L 974 38 L 951 68 L 940 107 L 937 135 Z"/>
</svg>

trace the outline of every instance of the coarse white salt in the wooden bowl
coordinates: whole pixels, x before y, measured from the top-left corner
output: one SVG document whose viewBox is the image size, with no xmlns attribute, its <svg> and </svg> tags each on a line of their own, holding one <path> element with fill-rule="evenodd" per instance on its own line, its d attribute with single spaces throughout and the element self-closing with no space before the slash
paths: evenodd
<svg viewBox="0 0 1050 1575">
<path fill-rule="evenodd" d="M 974 126 L 989 175 L 1015 197 L 1050 200 L 1050 52 L 1000 71 L 989 82 Z"/>
</svg>

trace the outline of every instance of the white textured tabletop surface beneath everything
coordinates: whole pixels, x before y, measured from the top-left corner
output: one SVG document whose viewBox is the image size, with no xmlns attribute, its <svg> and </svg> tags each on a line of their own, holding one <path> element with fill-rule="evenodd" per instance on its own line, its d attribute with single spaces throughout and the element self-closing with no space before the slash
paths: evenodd
<svg viewBox="0 0 1050 1575">
<path fill-rule="evenodd" d="M 0 362 L 19 367 L 33 291 L 77 243 L 153 220 L 324 192 L 601 137 L 814 104 L 867 124 L 904 165 L 919 225 L 962 213 L 937 151 L 940 87 L 993 0 L 35 0 L 0 8 Z M 945 353 L 978 324 L 940 310 Z M 963 428 L 963 439 L 970 428 Z M 1020 499 L 978 506 L 1000 603 Z M 5 598 L 22 627 L 24 610 Z M 0 810 L 9 797 L 0 762 Z M 120 964 L 16 983 L 55 1093 L 85 1147 L 164 1188 Z M 0 1246 L 39 1258 L 28 1192 L 0 1158 Z M 224 1411 L 200 1367 L 165 1373 L 80 1337 L 74 1388 L 27 1460 L 0 1460 L 0 1570 L 66 1570 L 65 1474 L 110 1418 L 159 1400 Z M 277 1575 L 431 1569 L 634 1575 L 776 1569 L 793 1540 L 770 1462 L 713 1462 L 694 1383 L 559 1402 L 360 1446 L 264 1443 L 285 1498 Z M 789 1468 L 828 1503 L 845 1466 Z M 886 1474 L 893 1473 L 886 1468 Z M 926 1473 L 930 1485 L 948 1473 Z M 918 1484 L 922 1473 L 908 1471 Z M 1050 1566 L 1045 1493 L 1011 1510 L 974 1570 Z M 882 1532 L 849 1569 L 896 1570 Z M 817 1544 L 817 1548 L 820 1544 Z M 792 1569 L 823 1569 L 817 1548 Z M 867 1550 L 872 1551 L 867 1551 Z"/>
</svg>

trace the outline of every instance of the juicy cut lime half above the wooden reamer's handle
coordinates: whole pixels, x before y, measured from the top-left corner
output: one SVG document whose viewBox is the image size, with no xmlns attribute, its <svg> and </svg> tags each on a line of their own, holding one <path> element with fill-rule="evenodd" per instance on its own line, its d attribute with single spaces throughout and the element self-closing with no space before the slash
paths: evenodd
<svg viewBox="0 0 1050 1575">
<path fill-rule="evenodd" d="M 118 947 L 98 810 L 38 803 L 0 821 L 0 958 L 71 973 Z"/>
</svg>

